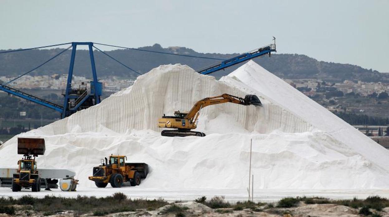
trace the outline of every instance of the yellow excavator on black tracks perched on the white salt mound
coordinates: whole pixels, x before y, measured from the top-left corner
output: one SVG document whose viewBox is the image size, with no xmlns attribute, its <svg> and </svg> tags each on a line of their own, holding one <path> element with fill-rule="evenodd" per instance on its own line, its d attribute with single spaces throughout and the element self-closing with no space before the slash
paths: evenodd
<svg viewBox="0 0 389 217">
<path fill-rule="evenodd" d="M 191 108 L 189 112 L 175 111 L 174 116 L 165 116 L 165 114 L 158 120 L 158 127 L 161 128 L 175 128 L 177 130 L 162 130 L 163 136 L 205 136 L 202 132 L 191 131 L 197 127 L 197 118 L 200 109 L 205 106 L 216 105 L 226 102 L 232 102 L 240 105 L 262 106 L 261 101 L 256 95 L 246 95 L 244 98 L 233 96 L 230 94 L 222 94 L 215 97 L 204 98 Z"/>
</svg>

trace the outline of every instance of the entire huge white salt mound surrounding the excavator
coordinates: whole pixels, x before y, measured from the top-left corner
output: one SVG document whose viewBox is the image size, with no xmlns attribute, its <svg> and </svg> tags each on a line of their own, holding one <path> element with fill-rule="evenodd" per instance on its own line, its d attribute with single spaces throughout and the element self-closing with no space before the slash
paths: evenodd
<svg viewBox="0 0 389 217">
<path fill-rule="evenodd" d="M 206 137 L 160 136 L 163 113 L 223 93 L 256 94 L 264 107 L 208 106 L 197 129 Z M 72 168 L 81 186 L 94 186 L 92 167 L 113 153 L 149 164 L 137 188 L 244 190 L 252 138 L 257 189 L 389 187 L 389 151 L 252 61 L 220 81 L 188 66 L 159 66 L 100 104 L 21 136 L 44 137 L 38 166 Z M 0 167 L 16 164 L 16 143 L 1 146 Z"/>
</svg>

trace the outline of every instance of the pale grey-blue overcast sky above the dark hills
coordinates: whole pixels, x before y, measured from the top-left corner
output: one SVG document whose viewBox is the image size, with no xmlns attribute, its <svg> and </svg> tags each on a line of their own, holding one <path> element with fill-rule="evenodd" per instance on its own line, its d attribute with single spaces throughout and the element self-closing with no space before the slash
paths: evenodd
<svg viewBox="0 0 389 217">
<path fill-rule="evenodd" d="M 0 49 L 88 41 L 225 54 L 275 36 L 278 53 L 389 72 L 388 21 L 388 0 L 0 0 Z"/>
</svg>

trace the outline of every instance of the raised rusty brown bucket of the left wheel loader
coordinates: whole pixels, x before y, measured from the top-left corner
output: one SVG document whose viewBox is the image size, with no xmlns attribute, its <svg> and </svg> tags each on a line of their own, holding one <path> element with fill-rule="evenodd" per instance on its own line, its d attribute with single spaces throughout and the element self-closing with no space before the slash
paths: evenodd
<svg viewBox="0 0 389 217">
<path fill-rule="evenodd" d="M 18 138 L 18 155 L 44 155 L 45 139 Z"/>
</svg>

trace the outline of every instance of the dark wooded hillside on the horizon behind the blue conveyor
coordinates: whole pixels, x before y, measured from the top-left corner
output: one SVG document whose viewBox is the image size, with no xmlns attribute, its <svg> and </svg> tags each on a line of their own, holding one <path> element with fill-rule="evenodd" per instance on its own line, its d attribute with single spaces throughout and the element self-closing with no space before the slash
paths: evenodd
<svg viewBox="0 0 389 217">
<path fill-rule="evenodd" d="M 103 46 L 97 47 L 104 49 Z M 228 59 L 237 55 L 216 53 L 203 54 L 185 47 L 163 48 L 159 44 L 141 47 L 140 49 L 203 57 L 215 57 L 220 59 Z M 55 54 L 58 54 L 61 50 L 63 49 L 42 49 L 0 54 L 0 76 L 20 75 L 46 61 Z M 142 74 L 163 64 L 181 63 L 194 69 L 200 69 L 204 66 L 217 62 L 216 60 L 163 55 L 128 49 L 112 50 L 107 53 Z M 103 55 L 97 50 L 95 51 L 95 59 L 97 72 L 100 77 L 114 75 L 127 78 L 130 76 L 135 78 L 137 76 L 136 73 L 133 73 L 117 62 L 112 61 L 112 59 L 109 59 L 109 57 Z M 34 71 L 32 75 L 51 75 L 54 73 L 67 74 L 69 60 L 70 50 L 47 63 L 45 66 L 39 68 L 37 71 Z M 86 77 L 91 75 L 90 66 L 88 64 L 84 64 L 86 61 L 89 61 L 88 51 L 78 50 L 75 61 L 75 74 L 84 75 Z M 271 58 L 263 56 L 254 59 L 254 61 L 281 78 L 321 78 L 322 80 L 328 82 L 339 82 L 343 80 L 378 82 L 388 78 L 387 75 L 372 69 L 364 69 L 360 66 L 351 64 L 317 61 L 314 58 L 300 54 L 272 54 Z M 221 77 L 223 75 L 227 75 L 240 65 L 233 66 L 225 71 L 217 72 L 214 76 Z"/>
</svg>

